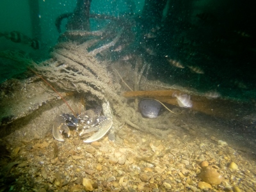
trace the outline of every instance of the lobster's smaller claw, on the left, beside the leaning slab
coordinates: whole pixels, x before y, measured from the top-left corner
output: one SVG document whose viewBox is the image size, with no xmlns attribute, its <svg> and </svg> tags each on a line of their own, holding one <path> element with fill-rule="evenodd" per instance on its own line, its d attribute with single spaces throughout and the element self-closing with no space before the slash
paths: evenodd
<svg viewBox="0 0 256 192">
<path fill-rule="evenodd" d="M 70 130 L 66 124 L 66 121 L 63 116 L 60 115 L 56 117 L 53 124 L 52 135 L 55 140 L 64 141 L 63 136 L 61 135 L 63 131 L 67 133 L 68 137 L 70 136 Z"/>
</svg>

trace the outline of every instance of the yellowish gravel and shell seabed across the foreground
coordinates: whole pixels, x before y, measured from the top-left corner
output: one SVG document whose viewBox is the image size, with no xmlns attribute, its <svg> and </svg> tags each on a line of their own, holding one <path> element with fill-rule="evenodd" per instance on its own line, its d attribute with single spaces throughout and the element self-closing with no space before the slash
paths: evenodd
<svg viewBox="0 0 256 192">
<path fill-rule="evenodd" d="M 115 142 L 105 136 L 86 144 L 76 131 L 60 142 L 49 131 L 43 139 L 12 141 L 12 145 L 4 140 L 1 143 L 0 191 L 253 191 L 256 188 L 255 161 L 246 157 L 248 153 L 225 146 L 216 138 L 191 136 L 182 129 L 173 130 L 166 140 L 124 126 Z"/>
</svg>

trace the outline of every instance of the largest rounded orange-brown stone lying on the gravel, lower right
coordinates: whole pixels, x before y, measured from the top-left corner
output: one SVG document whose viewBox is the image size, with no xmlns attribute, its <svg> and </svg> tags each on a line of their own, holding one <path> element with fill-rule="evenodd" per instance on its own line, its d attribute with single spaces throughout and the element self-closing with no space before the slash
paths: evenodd
<svg viewBox="0 0 256 192">
<path fill-rule="evenodd" d="M 220 175 L 220 173 L 218 173 L 212 166 L 203 168 L 202 172 L 200 173 L 200 177 L 205 182 L 215 185 L 220 184 L 223 180 L 223 177 Z"/>
</svg>

